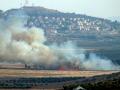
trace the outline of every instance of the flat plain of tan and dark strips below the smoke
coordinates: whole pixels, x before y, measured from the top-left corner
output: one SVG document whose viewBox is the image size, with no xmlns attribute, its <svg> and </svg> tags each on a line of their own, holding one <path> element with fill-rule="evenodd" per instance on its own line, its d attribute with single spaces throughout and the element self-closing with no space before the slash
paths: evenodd
<svg viewBox="0 0 120 90">
<path fill-rule="evenodd" d="M 119 71 L 0 69 L 0 89 L 64 90 L 65 85 L 85 83 L 90 80 L 94 82 L 99 80 L 101 75 L 117 72 Z M 98 79 L 94 76 L 98 76 Z"/>
</svg>

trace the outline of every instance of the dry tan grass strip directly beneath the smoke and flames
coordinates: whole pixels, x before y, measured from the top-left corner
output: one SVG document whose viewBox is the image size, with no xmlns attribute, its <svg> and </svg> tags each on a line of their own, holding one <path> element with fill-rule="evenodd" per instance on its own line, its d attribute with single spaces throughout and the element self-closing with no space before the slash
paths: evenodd
<svg viewBox="0 0 120 90">
<path fill-rule="evenodd" d="M 0 77 L 92 77 L 115 72 L 0 69 Z"/>
</svg>

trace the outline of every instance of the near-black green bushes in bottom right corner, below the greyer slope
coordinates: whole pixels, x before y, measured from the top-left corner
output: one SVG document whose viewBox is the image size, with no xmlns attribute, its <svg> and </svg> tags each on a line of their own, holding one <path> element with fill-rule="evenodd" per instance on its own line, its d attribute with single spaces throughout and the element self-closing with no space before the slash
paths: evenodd
<svg viewBox="0 0 120 90">
<path fill-rule="evenodd" d="M 82 86 L 87 90 L 119 90 L 120 89 L 120 79 L 103 81 L 96 83 L 85 83 L 85 84 L 74 84 L 70 86 L 64 86 L 64 90 L 72 90 L 77 86 Z"/>
</svg>

